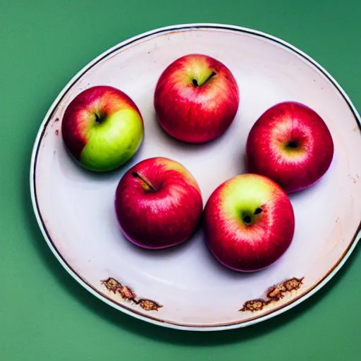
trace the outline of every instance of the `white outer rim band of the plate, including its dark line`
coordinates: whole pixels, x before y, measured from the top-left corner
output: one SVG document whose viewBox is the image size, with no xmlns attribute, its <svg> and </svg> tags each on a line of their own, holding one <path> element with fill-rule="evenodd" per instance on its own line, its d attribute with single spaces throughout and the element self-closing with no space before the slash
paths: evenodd
<svg viewBox="0 0 361 361">
<path fill-rule="evenodd" d="M 149 322 L 152 324 L 157 324 L 158 326 L 165 326 L 169 327 L 171 329 L 181 329 L 181 330 L 188 330 L 188 331 L 222 331 L 226 329 L 238 329 L 240 327 L 250 326 L 252 324 L 257 324 L 259 322 L 266 321 L 267 319 L 270 319 L 272 317 L 276 317 L 279 314 L 282 314 L 283 312 L 286 312 L 290 310 L 291 308 L 299 305 L 301 302 L 307 300 L 307 298 L 310 298 L 314 293 L 317 293 L 319 289 L 321 289 L 323 286 L 326 285 L 327 282 L 329 282 L 335 274 L 343 267 L 343 264 L 347 261 L 348 257 L 350 257 L 351 253 L 355 249 L 358 241 L 360 240 L 361 236 L 361 221 L 360 224 L 355 232 L 353 240 L 350 240 L 350 243 L 348 244 L 348 247 L 343 252 L 341 257 L 338 259 L 338 261 L 334 264 L 333 267 L 329 269 L 329 271 L 320 279 L 317 283 L 315 283 L 311 288 L 305 291 L 305 293 L 302 293 L 301 295 L 296 296 L 295 298 L 291 299 L 289 302 L 287 302 L 285 305 L 281 305 L 274 310 L 270 310 L 266 314 L 262 314 L 259 317 L 255 317 L 252 319 L 245 319 L 235 322 L 229 322 L 227 324 L 209 324 L 209 325 L 197 325 L 197 324 L 179 324 L 176 322 L 171 322 L 166 319 L 159 319 L 157 317 L 152 317 L 150 315 L 145 315 L 140 312 L 137 312 L 136 310 L 133 310 L 129 307 L 126 307 L 125 305 L 122 305 L 119 302 L 116 302 L 115 300 L 112 300 L 108 296 L 106 296 L 101 291 L 94 288 L 94 286 L 90 285 L 90 283 L 87 283 L 85 279 L 82 279 L 82 276 L 80 274 L 77 274 L 75 270 L 71 268 L 71 266 L 66 262 L 65 259 L 61 256 L 61 252 L 59 252 L 54 243 L 52 243 L 50 235 L 47 231 L 47 227 L 44 224 L 44 221 L 42 219 L 42 214 L 39 209 L 39 204 L 37 202 L 37 194 L 36 194 L 36 185 L 35 185 L 35 176 L 36 176 L 36 164 L 37 164 L 37 154 L 39 152 L 39 145 L 42 140 L 42 136 L 44 135 L 45 129 L 47 127 L 47 123 L 49 122 L 49 119 L 51 118 L 54 111 L 56 111 L 59 102 L 61 102 L 61 99 L 63 99 L 63 96 L 68 92 L 69 89 L 73 86 L 73 84 L 81 78 L 82 75 L 84 75 L 87 71 L 92 68 L 96 63 L 99 63 L 102 59 L 106 58 L 106 56 L 109 56 L 112 52 L 121 49 L 122 47 L 126 47 L 129 44 L 132 44 L 134 42 L 137 42 L 140 39 L 145 39 L 147 37 L 151 37 L 152 35 L 158 35 L 161 33 L 171 33 L 171 32 L 178 32 L 181 30 L 228 30 L 231 32 L 241 32 L 248 35 L 254 35 L 257 37 L 261 37 L 262 39 L 268 39 L 271 40 L 271 42 L 274 42 L 276 44 L 281 45 L 282 47 L 286 47 L 287 49 L 293 51 L 293 53 L 297 54 L 298 56 L 302 56 L 303 59 L 311 63 L 313 66 L 315 66 L 319 71 L 323 73 L 323 75 L 326 76 L 328 80 L 331 81 L 331 83 L 336 87 L 336 90 L 341 94 L 343 99 L 345 100 L 346 104 L 348 104 L 348 107 L 350 108 L 350 111 L 355 116 L 355 120 L 357 121 L 357 125 L 360 128 L 361 131 L 361 118 L 360 114 L 358 114 L 357 110 L 355 109 L 355 106 L 351 102 L 350 98 L 348 97 L 348 94 L 345 93 L 341 85 L 338 84 L 338 82 L 332 77 L 332 75 L 326 71 L 317 61 L 314 61 L 311 56 L 308 56 L 303 51 L 298 49 L 297 47 L 294 47 L 292 44 L 284 41 L 283 39 L 280 39 L 279 37 L 274 37 L 273 35 L 269 35 L 266 32 L 262 32 L 259 30 L 254 30 L 249 27 L 241 27 L 238 25 L 228 25 L 228 24 L 221 24 L 221 23 L 185 23 L 185 24 L 179 24 L 179 25 L 169 25 L 165 27 L 159 27 L 154 30 L 149 30 L 147 32 L 142 32 L 140 35 L 135 35 L 134 37 L 130 37 L 128 39 L 123 40 L 122 42 L 119 42 L 118 44 L 114 45 L 114 47 L 111 47 L 107 49 L 106 51 L 103 51 L 99 56 L 95 57 L 92 61 L 88 62 L 84 67 L 76 73 L 71 80 L 69 80 L 66 85 L 63 87 L 61 92 L 58 94 L 56 99 L 54 99 L 54 102 L 52 102 L 51 106 L 49 107 L 49 110 L 47 111 L 47 114 L 45 114 L 44 119 L 42 123 L 39 126 L 39 130 L 37 131 L 37 135 L 35 137 L 35 142 L 32 147 L 32 156 L 30 160 L 30 196 L 32 200 L 32 209 L 34 211 L 35 217 L 37 219 L 37 224 L 40 228 L 40 231 L 42 232 L 42 235 L 44 239 L 47 242 L 47 245 L 49 246 L 51 252 L 55 255 L 56 259 L 60 262 L 60 264 L 63 266 L 66 271 L 68 271 L 68 274 L 70 274 L 75 281 L 78 281 L 80 285 L 82 285 L 86 290 L 88 290 L 92 295 L 95 295 L 97 298 L 105 302 L 107 305 L 110 305 L 111 307 L 116 308 L 116 310 L 120 310 L 121 312 L 124 312 L 126 314 L 129 314 L 130 316 L 133 316 L 137 319 L 141 319 L 142 321 Z"/>
</svg>

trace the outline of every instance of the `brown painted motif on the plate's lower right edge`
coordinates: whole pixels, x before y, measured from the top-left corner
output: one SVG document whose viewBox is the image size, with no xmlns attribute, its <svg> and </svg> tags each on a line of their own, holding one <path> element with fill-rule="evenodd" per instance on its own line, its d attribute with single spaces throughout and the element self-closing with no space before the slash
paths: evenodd
<svg viewBox="0 0 361 361">
<path fill-rule="evenodd" d="M 271 303 L 278 302 L 283 298 L 287 293 L 292 292 L 293 290 L 298 290 L 303 283 L 304 277 L 302 279 L 288 279 L 279 283 L 278 285 L 271 287 L 267 290 L 266 298 L 256 298 L 255 300 L 249 300 L 243 304 L 243 307 L 239 310 L 241 312 L 256 312 L 261 311 L 264 307 L 268 306 Z"/>
</svg>

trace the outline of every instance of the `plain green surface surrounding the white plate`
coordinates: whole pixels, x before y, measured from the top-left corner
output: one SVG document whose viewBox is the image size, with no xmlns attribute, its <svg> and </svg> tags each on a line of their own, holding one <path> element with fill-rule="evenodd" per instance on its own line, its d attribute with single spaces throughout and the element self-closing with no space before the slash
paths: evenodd
<svg viewBox="0 0 361 361">
<path fill-rule="evenodd" d="M 123 39 L 165 25 L 228 23 L 281 37 L 361 109 L 358 2 L 1 0 L 0 360 L 360 360 L 360 247 L 279 317 L 214 333 L 164 329 L 112 309 L 66 273 L 39 232 L 28 181 L 37 129 L 68 80 Z"/>
</svg>

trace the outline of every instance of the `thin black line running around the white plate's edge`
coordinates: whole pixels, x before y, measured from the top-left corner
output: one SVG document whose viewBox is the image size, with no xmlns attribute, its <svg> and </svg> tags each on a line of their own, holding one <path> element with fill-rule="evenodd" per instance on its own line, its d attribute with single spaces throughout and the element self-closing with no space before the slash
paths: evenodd
<svg viewBox="0 0 361 361">
<path fill-rule="evenodd" d="M 345 95 L 343 94 L 343 92 L 341 92 L 341 90 L 339 89 L 339 86 L 336 84 L 336 82 L 332 79 L 329 78 L 329 74 L 326 73 L 326 71 L 324 71 L 322 68 L 319 68 L 318 63 L 315 63 L 313 59 L 308 59 L 307 56 L 305 56 L 304 54 L 302 54 L 298 49 L 294 49 L 293 47 L 290 47 L 288 44 L 280 41 L 279 39 L 275 39 L 267 34 L 259 34 L 258 32 L 252 31 L 250 29 L 240 29 L 238 27 L 228 27 L 226 25 L 200 25 L 200 26 L 192 26 L 192 25 L 185 25 L 183 27 L 169 27 L 169 28 L 165 28 L 165 29 L 160 29 L 154 32 L 149 32 L 146 35 L 140 36 L 140 37 L 135 37 L 135 39 L 131 39 L 128 42 L 125 42 L 123 44 L 121 44 L 120 46 L 114 48 L 112 51 L 107 52 L 106 54 L 104 54 L 104 56 L 102 56 L 102 58 L 99 58 L 95 63 L 93 63 L 91 66 L 87 67 L 82 73 L 80 73 L 80 75 L 78 75 L 77 78 L 75 78 L 75 80 L 73 80 L 73 82 L 70 85 L 66 85 L 66 87 L 68 87 L 68 89 L 66 90 L 66 92 L 64 92 L 64 94 L 62 95 L 62 97 L 59 99 L 59 101 L 57 102 L 56 105 L 52 105 L 54 107 L 54 109 L 51 111 L 51 114 L 49 114 L 48 118 L 47 118 L 47 122 L 44 124 L 44 128 L 42 130 L 42 134 L 39 137 L 39 142 L 37 144 L 37 150 L 35 152 L 35 159 L 34 159 L 34 171 L 33 171 L 33 186 L 34 186 L 34 195 L 35 195 L 35 204 L 37 207 L 37 214 L 39 215 L 39 219 L 42 223 L 42 228 L 44 229 L 44 232 L 47 235 L 47 238 L 49 240 L 49 242 L 51 243 L 53 249 L 56 251 L 56 254 L 62 259 L 62 261 L 64 262 L 64 264 L 66 264 L 66 267 L 68 267 L 68 269 L 71 270 L 71 272 L 77 276 L 78 281 L 80 280 L 82 283 L 85 283 L 87 286 L 89 286 L 90 288 L 92 288 L 92 290 L 94 290 L 100 297 L 102 298 L 106 298 L 106 300 L 109 300 L 111 303 L 114 303 L 114 305 L 118 305 L 120 307 L 122 307 L 125 310 L 128 310 L 130 312 L 133 312 L 135 314 L 140 315 L 140 317 L 145 317 L 147 319 L 152 319 L 153 321 L 157 321 L 159 323 L 168 323 L 168 324 L 173 324 L 173 325 L 178 325 L 178 326 L 182 326 L 182 327 L 189 327 L 189 328 L 194 328 L 194 327 L 204 327 L 204 328 L 217 328 L 220 326 L 234 326 L 234 325 L 240 325 L 243 324 L 245 322 L 249 322 L 252 319 L 259 319 L 259 318 L 263 318 L 263 317 L 267 317 L 269 316 L 269 314 L 272 314 L 273 312 L 276 312 L 278 310 L 281 310 L 282 308 L 291 305 L 293 302 L 295 302 L 296 300 L 300 299 L 300 298 L 304 298 L 305 295 L 307 295 L 307 293 L 310 293 L 315 287 L 317 287 L 319 285 L 319 283 L 321 283 L 322 281 L 324 281 L 330 274 L 332 271 L 334 271 L 334 269 L 338 266 L 338 264 L 341 262 L 341 260 L 345 257 L 345 255 L 347 254 L 348 250 L 350 250 L 350 247 L 353 245 L 353 243 L 356 242 L 357 239 L 357 233 L 358 231 L 360 231 L 360 227 L 361 227 L 361 221 L 360 221 L 360 225 L 357 228 L 357 231 L 355 233 L 355 238 L 350 242 L 350 244 L 348 245 L 347 249 L 345 250 L 345 252 L 343 253 L 343 255 L 341 255 L 341 257 L 338 259 L 338 261 L 336 262 L 336 264 L 334 264 L 334 266 L 329 270 L 329 272 L 327 272 L 327 274 L 319 280 L 319 282 L 315 283 L 314 286 L 312 286 L 309 290 L 307 290 L 307 292 L 303 293 L 302 295 L 300 295 L 298 298 L 294 298 L 293 300 L 291 300 L 290 302 L 286 303 L 285 305 L 282 305 L 281 307 L 276 308 L 275 310 L 272 310 L 269 313 L 266 314 L 262 314 L 259 317 L 252 317 L 251 319 L 245 319 L 242 321 L 238 321 L 238 322 L 233 322 L 231 324 L 214 324 L 214 325 L 186 325 L 186 324 L 177 324 L 177 323 L 173 323 L 173 322 L 166 322 L 162 319 L 158 319 L 157 317 L 152 317 L 150 315 L 147 314 L 143 314 L 140 312 L 137 312 L 133 309 L 130 309 L 128 307 L 125 307 L 124 305 L 121 305 L 121 303 L 116 302 L 115 300 L 112 300 L 111 298 L 109 298 L 108 296 L 104 295 L 104 293 L 101 293 L 99 290 L 97 290 L 97 288 L 95 288 L 94 286 L 92 286 L 90 283 L 88 283 L 85 279 L 82 278 L 82 276 L 80 276 L 80 274 L 78 274 L 78 272 L 76 272 L 70 264 L 68 264 L 68 262 L 66 261 L 65 258 L 63 258 L 63 255 L 61 255 L 61 253 L 59 252 L 59 250 L 56 248 L 56 245 L 54 244 L 53 240 L 51 239 L 51 236 L 47 230 L 47 227 L 44 224 L 44 220 L 42 218 L 42 214 L 40 212 L 40 208 L 39 208 L 39 203 L 37 200 L 37 188 L 36 188 L 36 166 L 37 166 L 37 157 L 39 155 L 39 149 L 40 149 L 40 144 L 42 142 L 42 138 L 44 137 L 44 133 L 45 130 L 49 124 L 49 121 L 51 119 L 51 117 L 54 115 L 54 112 L 56 111 L 56 109 L 58 109 L 59 104 L 61 103 L 61 101 L 63 100 L 63 97 L 66 96 L 67 92 L 71 89 L 71 87 L 73 87 L 73 85 L 75 85 L 76 82 L 78 82 L 78 80 L 80 80 L 80 78 L 82 78 L 83 75 L 85 75 L 85 73 L 87 73 L 88 71 L 90 71 L 91 68 L 93 68 L 94 66 L 96 66 L 100 61 L 102 61 L 103 59 L 105 59 L 106 57 L 108 57 L 109 55 L 113 54 L 114 52 L 122 49 L 123 47 L 128 47 L 128 45 L 133 44 L 134 42 L 139 42 L 142 39 L 145 39 L 147 37 L 153 37 L 154 35 L 159 35 L 161 33 L 168 33 L 168 32 L 176 32 L 176 31 L 181 31 L 181 30 L 207 30 L 207 29 L 216 29 L 216 30 L 229 30 L 232 32 L 240 32 L 240 33 L 245 33 L 245 34 L 249 34 L 249 35 L 255 35 L 256 37 L 261 37 L 263 39 L 267 39 L 270 40 L 271 42 L 274 42 L 276 44 L 281 45 L 281 47 L 286 48 L 290 51 L 293 51 L 295 54 L 298 54 L 299 56 L 302 57 L 302 59 L 305 59 L 305 61 L 307 61 L 308 63 L 311 63 L 313 66 L 315 66 L 318 71 L 320 71 L 331 83 L 332 85 L 334 85 L 334 87 L 336 88 L 336 90 L 338 91 L 338 93 L 341 95 L 341 97 L 343 98 L 343 100 L 346 102 L 346 104 L 348 105 L 348 108 L 350 109 L 351 113 L 353 114 L 353 116 L 355 116 L 355 121 L 357 123 L 357 126 L 359 127 L 359 129 L 361 130 L 361 124 L 357 119 L 357 114 L 355 114 L 355 111 L 353 110 L 353 106 L 351 106 L 349 100 L 345 97 Z"/>
</svg>

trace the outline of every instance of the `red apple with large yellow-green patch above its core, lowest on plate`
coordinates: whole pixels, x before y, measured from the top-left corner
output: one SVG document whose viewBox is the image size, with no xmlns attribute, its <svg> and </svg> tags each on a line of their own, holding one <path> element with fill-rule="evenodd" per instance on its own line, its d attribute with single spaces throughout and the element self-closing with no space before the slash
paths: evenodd
<svg viewBox="0 0 361 361">
<path fill-rule="evenodd" d="M 221 264 L 235 271 L 258 271 L 286 252 L 295 216 L 278 184 L 247 173 L 214 190 L 204 208 L 204 230 L 207 245 Z"/>
</svg>

